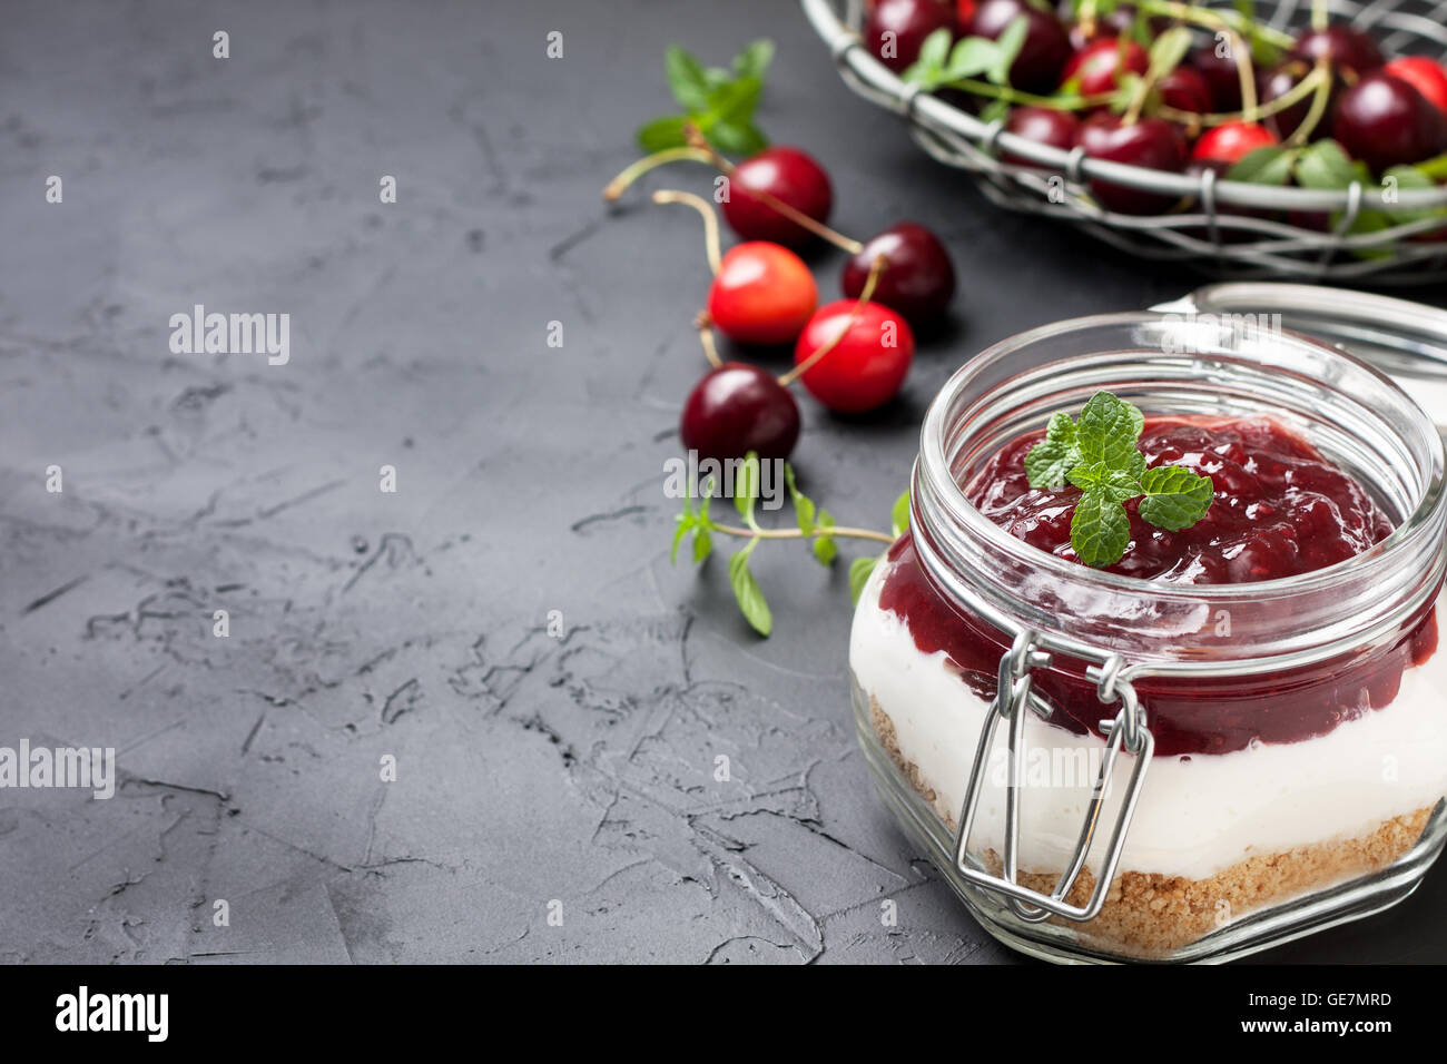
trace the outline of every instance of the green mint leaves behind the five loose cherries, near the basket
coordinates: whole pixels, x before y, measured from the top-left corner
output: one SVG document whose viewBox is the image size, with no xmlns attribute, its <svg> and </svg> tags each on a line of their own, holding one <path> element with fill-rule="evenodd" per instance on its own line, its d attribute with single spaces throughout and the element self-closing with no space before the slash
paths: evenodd
<svg viewBox="0 0 1447 1064">
<path fill-rule="evenodd" d="M 684 148 L 684 127 L 693 124 L 719 151 L 754 155 L 768 139 L 754 124 L 754 110 L 764 91 L 764 75 L 774 58 L 773 41 L 755 41 L 734 56 L 728 69 L 705 67 L 679 45 L 669 45 L 663 69 L 682 114 L 663 114 L 638 127 L 645 152 Z"/>
</svg>

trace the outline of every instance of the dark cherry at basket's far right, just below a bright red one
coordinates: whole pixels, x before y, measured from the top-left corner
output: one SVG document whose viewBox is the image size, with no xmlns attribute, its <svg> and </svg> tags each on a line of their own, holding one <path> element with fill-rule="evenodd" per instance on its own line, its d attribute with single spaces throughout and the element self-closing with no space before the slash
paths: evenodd
<svg viewBox="0 0 1447 1064">
<path fill-rule="evenodd" d="M 1373 174 L 1447 152 L 1447 117 L 1401 78 L 1363 75 L 1341 91 L 1331 132 Z"/>
</svg>

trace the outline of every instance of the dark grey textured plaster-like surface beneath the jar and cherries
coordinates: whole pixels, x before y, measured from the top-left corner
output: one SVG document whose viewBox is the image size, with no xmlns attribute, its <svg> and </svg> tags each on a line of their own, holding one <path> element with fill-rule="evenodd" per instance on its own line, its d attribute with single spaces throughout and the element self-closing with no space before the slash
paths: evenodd
<svg viewBox="0 0 1447 1064">
<path fill-rule="evenodd" d="M 803 404 L 807 489 L 880 525 L 971 352 L 1194 278 L 991 213 L 793 4 L 6 6 L 0 744 L 114 746 L 123 785 L 0 793 L 0 960 L 1011 960 L 871 790 L 842 566 L 760 550 L 763 641 L 722 565 L 667 562 L 708 271 L 689 211 L 598 190 L 669 109 L 667 42 L 760 35 L 760 120 L 838 224 L 916 217 L 961 272 L 901 401 Z M 171 355 L 194 303 L 289 313 L 291 363 Z M 1276 955 L 1440 960 L 1441 880 Z"/>
</svg>

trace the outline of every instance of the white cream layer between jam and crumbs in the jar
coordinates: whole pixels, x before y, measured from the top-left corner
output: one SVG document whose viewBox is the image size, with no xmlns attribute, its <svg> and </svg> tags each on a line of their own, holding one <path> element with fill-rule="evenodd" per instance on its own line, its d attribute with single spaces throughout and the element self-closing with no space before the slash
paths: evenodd
<svg viewBox="0 0 1447 1064">
<path fill-rule="evenodd" d="M 888 569 L 880 565 L 860 598 L 849 664 L 894 722 L 900 753 L 933 788 L 936 812 L 958 816 L 988 704 L 959 679 L 943 651 L 920 653 L 904 621 L 880 608 Z M 996 732 L 996 757 L 971 835 L 974 851 L 1001 848 L 1004 731 L 1001 725 Z M 1030 757 L 1020 864 L 1059 871 L 1079 837 L 1104 743 L 1033 714 L 1024 731 Z M 1114 822 L 1132 767 L 1130 757 L 1117 760 L 1103 825 Z M 1153 759 L 1120 870 L 1205 879 L 1247 857 L 1365 835 L 1444 793 L 1447 653 L 1437 653 L 1402 675 L 1391 705 L 1325 735 L 1257 743 L 1229 754 Z M 1107 834 L 1103 827 L 1098 845 Z M 1091 866 L 1098 867 L 1094 860 Z"/>
</svg>

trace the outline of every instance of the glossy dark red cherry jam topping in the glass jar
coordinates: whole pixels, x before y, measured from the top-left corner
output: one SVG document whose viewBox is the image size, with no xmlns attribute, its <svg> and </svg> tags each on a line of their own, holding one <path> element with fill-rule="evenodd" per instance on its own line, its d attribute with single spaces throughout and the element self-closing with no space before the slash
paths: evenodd
<svg viewBox="0 0 1447 1064">
<path fill-rule="evenodd" d="M 1069 525 L 1079 491 L 1030 488 L 1024 456 L 1042 433 L 1022 436 L 965 485 L 991 521 L 1040 550 L 1074 559 Z M 1172 585 L 1250 583 L 1324 569 L 1360 554 L 1392 531 L 1392 521 L 1347 472 L 1299 436 L 1265 418 L 1146 418 L 1140 449 L 1147 463 L 1179 465 L 1210 476 L 1215 499 L 1191 528 L 1153 528 L 1129 502 L 1132 544 L 1110 572 Z M 996 673 L 1010 640 L 939 598 L 906 534 L 880 607 L 909 625 L 922 653 L 943 650 L 961 679 L 994 698 Z M 1252 677 L 1172 680 L 1146 677 L 1136 691 L 1158 757 L 1224 754 L 1253 743 L 1295 743 L 1396 698 L 1402 672 L 1437 650 L 1437 615 L 1428 609 L 1370 653 Z M 1084 663 L 1058 659 L 1035 670 L 1035 688 L 1052 706 L 1051 722 L 1074 734 L 1100 734 L 1113 715 Z"/>
</svg>

